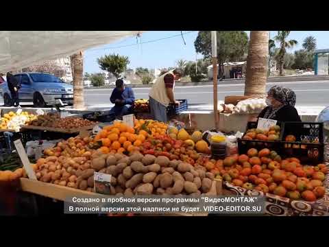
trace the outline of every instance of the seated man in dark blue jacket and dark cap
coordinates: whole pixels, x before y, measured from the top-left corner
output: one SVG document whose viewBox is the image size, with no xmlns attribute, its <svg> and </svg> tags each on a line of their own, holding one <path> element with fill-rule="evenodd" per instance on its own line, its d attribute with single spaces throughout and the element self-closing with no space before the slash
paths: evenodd
<svg viewBox="0 0 329 247">
<path fill-rule="evenodd" d="M 110 113 L 115 114 L 117 119 L 122 119 L 123 115 L 132 114 L 135 96 L 132 89 L 125 87 L 123 80 L 118 79 L 115 86 L 116 88 L 113 89 L 110 97 L 110 101 L 115 106 L 110 110 Z"/>
</svg>

